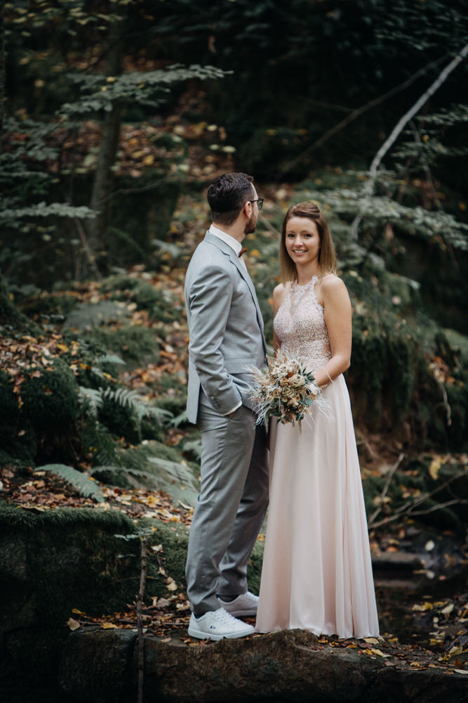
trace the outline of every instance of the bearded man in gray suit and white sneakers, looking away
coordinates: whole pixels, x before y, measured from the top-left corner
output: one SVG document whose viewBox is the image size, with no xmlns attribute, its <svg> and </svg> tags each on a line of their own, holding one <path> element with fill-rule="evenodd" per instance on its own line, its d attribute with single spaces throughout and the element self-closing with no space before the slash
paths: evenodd
<svg viewBox="0 0 468 703">
<path fill-rule="evenodd" d="M 265 427 L 256 427 L 248 366 L 265 365 L 263 321 L 242 240 L 255 231 L 258 198 L 252 176 L 228 173 L 207 193 L 213 224 L 187 269 L 189 323 L 187 417 L 201 430 L 201 489 L 190 529 L 189 635 L 219 640 L 254 628 L 247 561 L 268 503 Z"/>
</svg>

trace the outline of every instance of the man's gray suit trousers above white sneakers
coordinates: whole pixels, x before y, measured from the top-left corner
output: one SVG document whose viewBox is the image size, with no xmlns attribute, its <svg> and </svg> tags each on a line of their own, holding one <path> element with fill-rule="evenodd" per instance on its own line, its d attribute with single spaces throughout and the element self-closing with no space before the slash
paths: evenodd
<svg viewBox="0 0 468 703">
<path fill-rule="evenodd" d="M 268 505 L 265 427 L 245 406 L 219 415 L 203 392 L 201 489 L 190 528 L 187 595 L 196 616 L 217 610 L 216 595 L 247 591 L 247 562 Z"/>
</svg>

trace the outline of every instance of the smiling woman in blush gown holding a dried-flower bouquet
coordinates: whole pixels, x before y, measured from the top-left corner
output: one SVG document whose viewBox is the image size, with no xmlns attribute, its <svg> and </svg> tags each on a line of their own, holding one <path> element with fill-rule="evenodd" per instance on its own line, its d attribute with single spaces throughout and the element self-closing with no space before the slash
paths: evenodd
<svg viewBox="0 0 468 703">
<path fill-rule="evenodd" d="M 274 344 L 314 372 L 330 412 L 272 422 L 270 498 L 256 629 L 340 638 L 379 632 L 349 394 L 351 304 L 326 219 L 288 209 L 274 289 Z M 331 415 L 331 417 L 330 417 Z M 276 427 L 275 427 L 276 425 Z"/>
</svg>

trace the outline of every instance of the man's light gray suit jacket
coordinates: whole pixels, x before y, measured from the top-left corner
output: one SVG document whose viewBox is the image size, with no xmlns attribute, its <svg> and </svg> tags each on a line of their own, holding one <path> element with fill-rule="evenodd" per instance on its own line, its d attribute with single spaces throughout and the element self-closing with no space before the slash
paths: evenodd
<svg viewBox="0 0 468 703">
<path fill-rule="evenodd" d="M 188 419 L 196 423 L 200 389 L 220 415 L 239 401 L 253 408 L 246 366 L 265 364 L 262 314 L 239 257 L 210 232 L 189 263 L 185 305 L 190 335 Z"/>
</svg>

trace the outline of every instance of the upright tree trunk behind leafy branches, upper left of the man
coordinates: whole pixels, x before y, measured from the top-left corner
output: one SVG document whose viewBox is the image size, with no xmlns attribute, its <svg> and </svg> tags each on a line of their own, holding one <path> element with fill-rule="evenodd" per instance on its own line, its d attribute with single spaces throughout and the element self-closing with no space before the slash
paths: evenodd
<svg viewBox="0 0 468 703">
<path fill-rule="evenodd" d="M 122 51 L 121 32 L 123 20 L 114 22 L 109 33 L 109 53 L 107 54 L 106 75 L 116 76 L 121 73 Z M 119 101 L 112 103 L 112 110 L 106 112 L 102 124 L 102 139 L 96 166 L 93 193 L 91 195 L 91 208 L 98 212 L 95 219 L 88 225 L 88 247 L 96 259 L 102 249 L 105 232 L 109 226 L 110 198 L 114 185 L 114 166 L 117 149 L 119 148 L 121 126 L 121 104 Z"/>
</svg>

